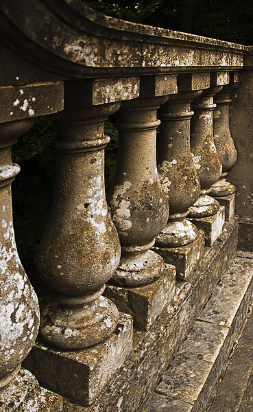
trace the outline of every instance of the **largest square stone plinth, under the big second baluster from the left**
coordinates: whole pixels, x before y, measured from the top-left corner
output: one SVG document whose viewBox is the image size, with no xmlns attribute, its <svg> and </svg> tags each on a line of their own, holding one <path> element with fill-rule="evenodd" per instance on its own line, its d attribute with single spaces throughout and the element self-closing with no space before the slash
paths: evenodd
<svg viewBox="0 0 253 412">
<path fill-rule="evenodd" d="M 63 352 L 38 340 L 24 364 L 41 386 L 88 407 L 130 355 L 132 332 L 132 317 L 120 313 L 117 329 L 99 345 Z"/>
</svg>

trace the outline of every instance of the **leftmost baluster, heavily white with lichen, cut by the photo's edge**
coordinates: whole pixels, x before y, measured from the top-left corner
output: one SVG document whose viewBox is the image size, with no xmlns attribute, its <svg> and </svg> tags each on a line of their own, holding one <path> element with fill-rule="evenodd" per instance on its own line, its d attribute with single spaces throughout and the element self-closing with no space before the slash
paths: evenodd
<svg viewBox="0 0 253 412">
<path fill-rule="evenodd" d="M 12 222 L 11 183 L 19 166 L 12 163 L 10 148 L 27 132 L 31 119 L 0 125 L 0 409 L 38 411 L 40 387 L 21 362 L 38 334 L 38 299 L 16 251 Z"/>
</svg>

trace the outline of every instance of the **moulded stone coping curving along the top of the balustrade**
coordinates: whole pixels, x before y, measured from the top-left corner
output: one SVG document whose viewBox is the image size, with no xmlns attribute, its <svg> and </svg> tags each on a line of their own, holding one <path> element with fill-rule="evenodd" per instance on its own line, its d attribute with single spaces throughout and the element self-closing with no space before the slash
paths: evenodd
<svg viewBox="0 0 253 412">
<path fill-rule="evenodd" d="M 15 52 L 65 79 L 239 69 L 252 54 L 252 47 L 105 16 L 81 0 L 3 1 L 0 11 L 1 36 Z"/>
</svg>

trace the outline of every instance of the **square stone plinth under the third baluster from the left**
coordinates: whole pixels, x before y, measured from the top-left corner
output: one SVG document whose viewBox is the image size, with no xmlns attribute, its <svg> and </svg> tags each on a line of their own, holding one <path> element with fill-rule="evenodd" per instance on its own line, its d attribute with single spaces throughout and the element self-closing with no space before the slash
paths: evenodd
<svg viewBox="0 0 253 412">
<path fill-rule="evenodd" d="M 176 268 L 166 265 L 162 276 L 152 284 L 141 288 L 122 288 L 107 284 L 104 295 L 111 299 L 121 312 L 132 315 L 135 328 L 148 330 L 173 299 L 175 277 Z"/>
</svg>

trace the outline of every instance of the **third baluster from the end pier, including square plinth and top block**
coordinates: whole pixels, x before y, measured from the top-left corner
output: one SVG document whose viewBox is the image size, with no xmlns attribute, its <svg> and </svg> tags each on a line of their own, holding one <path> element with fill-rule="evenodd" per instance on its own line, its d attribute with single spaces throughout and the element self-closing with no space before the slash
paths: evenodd
<svg viewBox="0 0 253 412">
<path fill-rule="evenodd" d="M 156 238 L 155 251 L 176 266 L 177 275 L 189 277 L 204 253 L 204 237 L 185 216 L 200 196 L 200 179 L 191 155 L 191 102 L 210 86 L 209 73 L 178 76 L 178 93 L 158 111 L 158 174 L 168 196 L 170 215 Z"/>
</svg>

